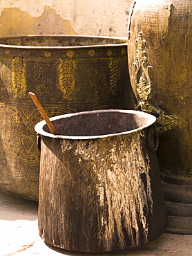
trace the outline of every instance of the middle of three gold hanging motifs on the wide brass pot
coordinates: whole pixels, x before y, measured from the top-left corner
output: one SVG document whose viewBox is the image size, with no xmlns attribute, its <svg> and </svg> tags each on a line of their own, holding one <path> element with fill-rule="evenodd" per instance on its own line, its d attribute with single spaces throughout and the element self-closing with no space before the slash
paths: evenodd
<svg viewBox="0 0 192 256">
<path fill-rule="evenodd" d="M 75 85 L 74 80 L 74 60 L 61 59 L 59 65 L 59 84 L 61 91 L 64 93 L 64 98 L 69 98 L 71 91 Z"/>
</svg>

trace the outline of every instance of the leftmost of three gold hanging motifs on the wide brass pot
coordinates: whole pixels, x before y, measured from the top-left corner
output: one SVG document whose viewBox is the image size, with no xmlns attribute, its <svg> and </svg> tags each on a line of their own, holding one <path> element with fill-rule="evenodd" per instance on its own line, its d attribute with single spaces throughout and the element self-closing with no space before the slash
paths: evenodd
<svg viewBox="0 0 192 256">
<path fill-rule="evenodd" d="M 25 65 L 23 58 L 15 57 L 12 61 L 12 83 L 17 93 L 24 87 L 24 71 Z"/>
</svg>

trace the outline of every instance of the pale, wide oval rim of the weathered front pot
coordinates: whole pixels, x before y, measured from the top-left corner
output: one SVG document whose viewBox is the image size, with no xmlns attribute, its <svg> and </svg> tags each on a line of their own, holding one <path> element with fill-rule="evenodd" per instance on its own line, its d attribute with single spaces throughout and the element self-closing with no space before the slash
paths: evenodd
<svg viewBox="0 0 192 256">
<path fill-rule="evenodd" d="M 138 116 L 143 116 L 147 119 L 147 122 L 145 125 L 142 125 L 142 127 L 139 127 L 137 129 L 131 129 L 128 131 L 123 131 L 115 134 L 104 134 L 104 135 L 96 135 L 96 136 L 95 135 L 94 136 L 64 136 L 64 135 L 55 135 L 55 134 L 48 133 L 47 131 L 44 131 L 43 127 L 44 125 L 46 125 L 46 121 L 42 120 L 41 122 L 38 122 L 37 125 L 35 125 L 35 131 L 37 132 L 37 134 L 41 134 L 43 136 L 50 137 L 50 138 L 62 138 L 62 139 L 68 139 L 68 140 L 91 140 L 91 139 L 97 139 L 97 138 L 108 138 L 108 137 L 117 136 L 117 135 L 132 134 L 137 131 L 141 131 L 142 129 L 145 129 L 150 125 L 153 125 L 153 123 L 156 121 L 155 116 L 149 113 L 144 113 L 142 111 L 136 111 L 136 110 L 124 110 L 124 109 L 102 109 L 102 110 L 93 110 L 93 111 L 81 111 L 77 113 L 68 113 L 64 115 L 54 116 L 50 118 L 50 121 L 59 120 L 61 118 L 70 118 L 71 116 L 86 115 L 90 113 L 105 113 L 108 111 L 116 112 L 116 113 L 131 113 Z"/>
</svg>

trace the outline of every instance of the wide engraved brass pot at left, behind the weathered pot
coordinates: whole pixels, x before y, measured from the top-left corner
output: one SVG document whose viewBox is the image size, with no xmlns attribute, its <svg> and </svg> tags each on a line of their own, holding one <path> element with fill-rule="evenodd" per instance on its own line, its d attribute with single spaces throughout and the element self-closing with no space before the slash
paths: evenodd
<svg viewBox="0 0 192 256">
<path fill-rule="evenodd" d="M 41 120 L 93 109 L 133 109 L 124 38 L 28 36 L 0 39 L 0 189 L 38 200 Z"/>
</svg>

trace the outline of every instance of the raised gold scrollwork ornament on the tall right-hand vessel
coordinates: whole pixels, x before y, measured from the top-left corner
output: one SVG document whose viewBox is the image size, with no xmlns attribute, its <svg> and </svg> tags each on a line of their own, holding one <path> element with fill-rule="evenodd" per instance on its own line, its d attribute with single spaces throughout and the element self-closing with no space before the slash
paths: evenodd
<svg viewBox="0 0 192 256">
<path fill-rule="evenodd" d="M 158 107 L 156 108 L 148 102 L 153 93 L 153 82 L 150 76 L 152 66 L 148 63 L 148 57 L 145 51 L 146 40 L 144 39 L 142 32 L 139 33 L 136 44 L 136 62 L 133 63 L 133 90 L 138 101 L 136 109 L 156 116 L 157 131 L 159 132 L 166 131 L 180 125 L 180 118 L 175 116 L 173 113 L 166 115 L 162 109 L 159 109 Z"/>
</svg>

